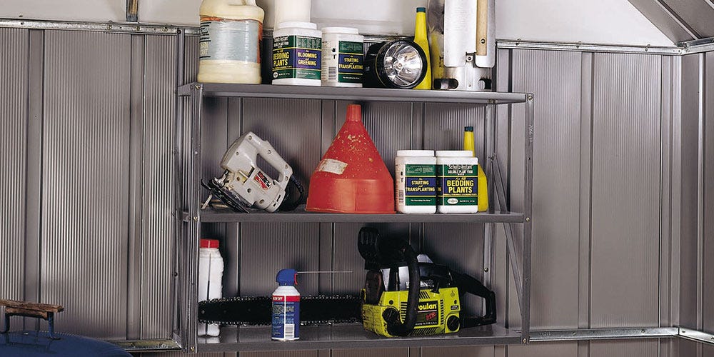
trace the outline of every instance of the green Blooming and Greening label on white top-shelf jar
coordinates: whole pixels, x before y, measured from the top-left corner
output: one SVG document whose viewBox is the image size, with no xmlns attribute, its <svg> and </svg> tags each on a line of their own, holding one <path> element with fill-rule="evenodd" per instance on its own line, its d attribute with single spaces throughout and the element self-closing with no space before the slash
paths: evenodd
<svg viewBox="0 0 714 357">
<path fill-rule="evenodd" d="M 280 36 L 273 41 L 273 79 L 320 79 L 322 39 Z"/>
</svg>

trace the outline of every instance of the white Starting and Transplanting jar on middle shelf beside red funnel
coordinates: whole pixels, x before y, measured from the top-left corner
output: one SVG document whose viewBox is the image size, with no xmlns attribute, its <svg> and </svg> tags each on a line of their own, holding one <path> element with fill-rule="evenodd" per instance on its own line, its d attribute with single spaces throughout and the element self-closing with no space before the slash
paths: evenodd
<svg viewBox="0 0 714 357">
<path fill-rule="evenodd" d="M 436 157 L 433 150 L 398 150 L 395 161 L 397 211 L 436 213 Z"/>
</svg>

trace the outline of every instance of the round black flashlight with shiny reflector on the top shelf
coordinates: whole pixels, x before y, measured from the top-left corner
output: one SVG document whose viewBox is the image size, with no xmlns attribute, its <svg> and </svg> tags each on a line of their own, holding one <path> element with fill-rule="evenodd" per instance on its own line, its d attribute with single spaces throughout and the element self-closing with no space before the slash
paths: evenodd
<svg viewBox="0 0 714 357">
<path fill-rule="evenodd" d="M 396 40 L 369 46 L 364 56 L 363 85 L 411 89 L 426 76 L 426 54 L 413 41 Z"/>
</svg>

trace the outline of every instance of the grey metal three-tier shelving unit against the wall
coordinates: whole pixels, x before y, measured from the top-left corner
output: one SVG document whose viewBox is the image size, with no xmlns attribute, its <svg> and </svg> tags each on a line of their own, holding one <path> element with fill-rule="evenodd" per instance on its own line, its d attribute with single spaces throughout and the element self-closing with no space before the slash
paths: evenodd
<svg viewBox="0 0 714 357">
<path fill-rule="evenodd" d="M 304 350 L 329 348 L 475 346 L 526 343 L 530 338 L 531 292 L 531 209 L 533 190 L 533 96 L 521 93 L 468 91 L 413 91 L 399 89 L 336 88 L 320 86 L 270 86 L 263 84 L 201 84 L 179 86 L 176 106 L 176 231 L 178 251 L 178 311 L 175 338 L 186 352 Z M 486 120 L 495 122 L 498 105 L 526 104 L 524 124 L 523 212 L 489 211 L 476 214 L 341 214 L 306 212 L 304 206 L 291 212 L 236 213 L 229 209 L 201 209 L 206 191 L 201 187 L 201 113 L 207 97 L 318 99 L 338 101 L 401 101 L 417 103 L 453 103 L 486 106 Z M 516 119 L 513 119 L 516 120 Z M 493 139 L 493 133 L 487 133 Z M 488 148 L 487 148 L 488 150 Z M 493 150 L 493 149 L 491 149 Z M 491 152 L 491 151 L 487 151 Z M 491 159 L 491 158 L 489 158 Z M 497 162 L 497 161 L 495 161 Z M 488 166 L 487 166 L 488 168 Z M 496 174 L 500 177 L 498 166 Z M 493 174 L 490 179 L 493 180 Z M 496 183 L 491 193 L 499 207 L 506 207 L 506 191 Z M 442 336 L 383 338 L 365 331 L 361 324 L 346 323 L 302 326 L 301 339 L 291 342 L 271 341 L 270 326 L 224 326 L 218 338 L 196 336 L 198 314 L 198 241 L 201 223 L 305 222 L 305 223 L 503 223 L 511 258 L 513 281 L 521 307 L 518 331 L 501 324 L 465 328 Z M 513 243 L 513 226 L 522 228 L 523 249 Z M 488 239 L 490 242 L 490 238 Z M 486 247 L 491 243 L 484 242 Z M 491 248 L 492 249 L 492 248 Z M 518 252 L 518 253 L 516 253 Z M 518 263 L 521 261 L 521 265 Z M 522 274 L 521 274 L 522 273 Z"/>
</svg>

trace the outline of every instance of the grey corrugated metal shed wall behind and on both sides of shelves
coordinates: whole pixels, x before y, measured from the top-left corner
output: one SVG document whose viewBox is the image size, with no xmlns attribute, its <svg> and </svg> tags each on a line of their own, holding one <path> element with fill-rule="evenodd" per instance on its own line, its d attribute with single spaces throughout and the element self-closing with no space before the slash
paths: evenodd
<svg viewBox="0 0 714 357">
<path fill-rule="evenodd" d="M 28 66 L 34 64 L 29 60 L 29 32 L 0 29 L 0 63 L 11 64 L 1 66 L 0 79 L 17 83 L 21 89 L 0 89 L 4 104 L 0 106 L 2 124 L 8 128 L 2 131 L 2 142 L 7 145 L 6 152 L 18 152 L 6 159 L 10 160 L 6 167 L 13 169 L 4 171 L 0 186 L 0 202 L 9 208 L 5 216 L 11 217 L 7 221 L 11 224 L 0 228 L 9 238 L 0 242 L 0 249 L 9 251 L 11 257 L 7 265 L 10 268 L 3 271 L 9 275 L 0 279 L 0 293 L 22 298 L 29 291 L 30 295 L 38 293 L 42 302 L 63 303 L 67 311 L 58 318 L 61 331 L 102 338 L 167 338 L 171 329 L 171 309 L 167 306 L 173 301 L 171 149 L 176 38 L 79 31 L 44 31 L 36 36 L 44 51 L 44 61 L 39 66 L 44 73 L 44 99 L 40 101 L 43 125 L 39 131 L 42 175 L 41 185 L 38 180 L 36 187 L 26 188 L 24 173 L 29 169 L 24 150 L 28 149 L 27 126 L 33 123 L 24 120 L 31 115 L 26 103 L 31 100 L 28 86 L 33 83 L 27 79 L 31 77 Z M 35 31 L 38 32 L 42 31 Z M 198 43 L 189 36 L 186 45 L 189 54 L 185 76 L 191 81 L 196 74 Z M 696 291 L 698 284 L 696 273 L 692 279 L 687 268 L 692 259 L 686 258 L 700 254 L 705 271 L 714 268 L 709 258 L 714 256 L 711 239 L 703 241 L 705 251 L 698 253 L 696 240 L 692 246 L 683 238 L 678 252 L 683 264 L 681 274 L 679 258 L 669 256 L 668 248 L 662 248 L 679 244 L 660 231 L 661 226 L 669 224 L 664 222 L 668 218 L 662 217 L 670 216 L 669 206 L 663 203 L 669 199 L 670 183 L 664 177 L 670 176 L 674 161 L 681 161 L 683 171 L 697 169 L 696 163 L 682 160 L 689 150 L 698 152 L 696 144 L 689 147 L 683 143 L 681 157 L 668 156 L 670 145 L 674 145 L 670 144 L 673 136 L 678 134 L 673 124 L 676 118 L 669 114 L 675 111 L 670 106 L 675 102 L 676 91 L 670 87 L 678 73 L 678 61 L 656 55 L 500 51 L 499 88 L 532 91 L 536 98 L 533 328 L 669 326 L 699 320 L 706 330 L 714 329 L 714 310 L 705 303 L 699 318 L 696 310 L 691 316 L 685 308 L 681 313 L 678 310 L 678 306 L 690 306 L 692 293 L 684 289 L 693 284 Z M 688 69 L 700 65 L 706 69 L 705 93 L 710 98 L 714 95 L 712 54 L 698 59 L 685 57 L 682 74 L 688 76 Z M 691 132 L 693 127 L 687 121 L 688 111 L 692 110 L 687 101 L 695 99 L 685 95 L 694 84 L 686 78 L 681 82 L 682 135 L 686 138 L 697 134 L 697 128 Z M 691 90 L 698 91 L 698 87 Z M 233 139 L 253 130 L 271 141 L 291 162 L 298 178 L 306 181 L 343 123 L 346 104 L 231 99 L 204 106 L 209 118 L 204 127 L 218 138 L 204 143 L 204 176 L 218 174 L 211 163 L 217 162 Z M 513 106 L 511 111 L 498 109 L 499 123 L 503 124 L 503 117 L 508 115 L 520 118 L 522 110 L 521 106 Z M 705 113 L 709 124 L 714 120 L 714 111 Z M 397 149 L 456 149 L 462 126 L 473 125 L 477 131 L 484 126 L 483 109 L 468 106 L 368 104 L 364 118 L 390 169 Z M 502 165 L 511 168 L 511 203 L 516 206 L 522 185 L 518 182 L 522 181 L 518 171 L 522 164 L 516 158 L 516 153 L 522 151 L 521 128 L 516 123 L 512 128 L 500 125 L 498 129 L 500 150 L 505 142 L 514 144 L 512 152 L 499 152 L 499 156 Z M 712 128 L 714 125 L 706 126 L 708 138 L 714 137 L 710 134 Z M 480 143 L 482 139 L 477 136 Z M 705 152 L 714 152 L 708 145 Z M 711 157 L 714 156 L 707 156 Z M 708 159 L 707 177 L 712 167 Z M 689 176 L 682 178 L 683 188 L 690 187 L 685 186 L 688 179 Z M 712 183 L 706 184 L 710 187 Z M 23 204 L 25 200 L 16 197 L 32 189 L 41 189 L 42 193 L 42 263 L 34 273 L 40 278 L 37 286 L 22 278 L 27 274 L 23 273 L 26 253 L 21 238 L 25 235 L 25 210 L 10 209 L 17 208 L 17 202 Z M 714 188 L 705 192 L 714 192 Z M 683 237 L 691 233 L 687 231 L 690 228 L 686 220 L 690 216 L 684 206 L 690 203 L 687 200 L 696 201 L 696 191 L 688 195 L 687 191 L 681 194 Z M 710 217 L 713 200 L 707 196 L 704 202 L 704 216 Z M 356 271 L 334 279 L 306 277 L 301 281 L 303 293 L 341 293 L 354 291 L 363 283 L 361 258 L 353 246 L 360 226 L 224 224 L 206 225 L 204 232 L 223 238 L 228 252 L 227 295 L 268 293 L 273 288 L 271 272 L 286 264 L 311 270 Z M 436 261 L 478 278 L 483 276 L 482 237 L 480 233 L 474 235 L 470 226 L 379 227 L 406 234 L 433 251 Z M 674 223 L 672 227 L 678 229 Z M 706 219 L 704 227 L 708 232 L 713 229 Z M 508 323 L 518 326 L 503 233 L 500 228 L 497 231 L 497 260 L 492 273 L 500 300 L 499 318 L 504 321 L 508 316 Z M 271 252 L 275 258 L 246 253 L 255 251 Z M 288 251 L 293 261 L 280 258 L 288 256 Z M 238 254 L 243 259 L 238 261 Z M 695 259 L 694 264 L 696 271 Z M 677 296 L 670 291 L 668 276 L 673 274 L 680 274 L 676 280 L 680 281 L 682 293 L 675 291 Z M 713 284 L 705 280 L 700 285 L 704 301 L 712 301 Z M 83 300 L 88 296 L 89 304 Z M 697 306 L 696 293 L 693 296 Z M 478 310 L 473 301 L 467 303 L 469 308 Z M 139 312 L 132 306 L 139 307 Z M 657 340 L 566 342 L 508 348 L 333 351 L 333 356 L 669 356 L 668 346 Z M 679 356 L 688 356 L 682 351 L 686 350 L 680 350 Z M 300 356 L 315 354 L 306 351 Z"/>
</svg>

